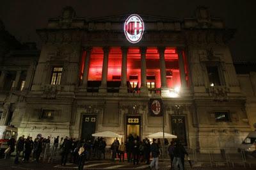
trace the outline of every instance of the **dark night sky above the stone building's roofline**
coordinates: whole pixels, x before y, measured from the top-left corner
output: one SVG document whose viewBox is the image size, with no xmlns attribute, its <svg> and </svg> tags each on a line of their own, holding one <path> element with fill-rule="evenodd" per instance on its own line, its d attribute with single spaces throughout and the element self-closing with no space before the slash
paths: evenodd
<svg viewBox="0 0 256 170">
<path fill-rule="evenodd" d="M 221 17 L 229 28 L 237 29 L 230 42 L 236 59 L 256 61 L 255 0 L 1 0 L 0 19 L 6 30 L 22 42 L 35 41 L 40 48 L 36 29 L 47 20 L 61 15 L 61 9 L 72 6 L 77 17 L 104 17 L 139 13 L 168 17 L 191 17 L 196 6 L 209 7 L 212 16 Z"/>
</svg>

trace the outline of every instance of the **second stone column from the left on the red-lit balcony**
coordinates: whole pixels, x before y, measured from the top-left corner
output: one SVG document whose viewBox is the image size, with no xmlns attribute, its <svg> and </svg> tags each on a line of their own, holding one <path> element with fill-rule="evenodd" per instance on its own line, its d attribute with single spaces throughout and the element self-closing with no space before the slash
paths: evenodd
<svg viewBox="0 0 256 170">
<path fill-rule="evenodd" d="M 104 51 L 104 58 L 103 58 L 103 65 L 102 65 L 102 80 L 100 84 L 99 93 L 107 93 L 109 47 L 104 47 L 103 51 Z"/>
</svg>

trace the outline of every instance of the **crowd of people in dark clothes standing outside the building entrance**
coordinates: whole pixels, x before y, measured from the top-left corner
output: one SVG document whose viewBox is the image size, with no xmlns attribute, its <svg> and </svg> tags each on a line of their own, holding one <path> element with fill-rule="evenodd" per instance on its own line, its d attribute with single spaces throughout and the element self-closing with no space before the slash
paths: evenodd
<svg viewBox="0 0 256 170">
<path fill-rule="evenodd" d="M 44 138 L 38 135 L 33 141 L 32 137 L 20 136 L 17 142 L 12 138 L 8 141 L 8 151 L 6 150 L 5 158 L 10 158 L 10 154 L 16 151 L 14 163 L 19 164 L 20 154 L 22 162 L 31 161 L 39 162 L 42 157 L 42 151 L 45 149 L 50 150 L 51 137 Z M 92 139 L 72 139 L 70 137 L 54 137 L 53 147 L 54 152 L 59 151 L 61 154 L 61 165 L 65 166 L 67 161 L 77 164 L 79 169 L 83 169 L 84 162 L 90 159 L 105 159 L 106 141 L 102 137 L 97 137 L 94 141 Z M 179 167 L 184 169 L 184 157 L 188 155 L 184 146 L 179 143 L 178 140 L 171 141 L 170 145 L 166 139 L 164 139 L 164 145 L 168 146 L 168 154 L 170 156 L 172 167 Z M 16 147 L 15 147 L 16 146 Z M 48 147 L 48 148 L 47 148 Z M 155 167 L 158 169 L 159 155 L 160 155 L 161 142 L 160 139 L 153 139 L 150 142 L 145 138 L 140 140 L 138 136 L 129 135 L 127 141 L 119 142 L 116 138 L 111 144 L 111 160 L 115 162 L 116 159 L 119 162 L 125 161 L 125 155 L 127 162 L 131 162 L 134 165 L 139 163 L 148 164 L 150 168 Z M 126 154 L 125 154 L 126 153 Z M 150 162 L 150 157 L 152 161 Z"/>
</svg>

